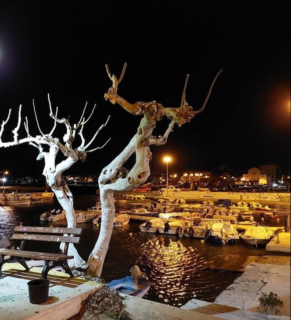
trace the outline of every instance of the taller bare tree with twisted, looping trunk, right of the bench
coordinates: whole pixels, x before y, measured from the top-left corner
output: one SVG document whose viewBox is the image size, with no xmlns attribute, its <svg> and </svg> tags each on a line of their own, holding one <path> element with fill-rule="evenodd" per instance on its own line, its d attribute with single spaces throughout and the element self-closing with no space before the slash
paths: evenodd
<svg viewBox="0 0 291 320">
<path fill-rule="evenodd" d="M 212 82 L 207 98 L 198 111 L 193 111 L 191 106 L 186 102 L 186 83 L 182 95 L 182 101 L 179 108 L 165 108 L 162 104 L 152 102 L 136 102 L 131 104 L 117 95 L 117 86 L 121 82 L 126 69 L 126 63 L 123 66 L 120 77 L 117 79 L 115 74 L 111 74 L 106 64 L 106 70 L 112 81 L 112 86 L 104 95 L 105 100 L 109 100 L 112 104 L 119 104 L 126 111 L 133 115 L 142 115 L 136 134 L 131 138 L 128 145 L 121 151 L 119 155 L 106 166 L 99 176 L 100 201 L 102 206 L 102 223 L 99 237 L 91 252 L 88 264 L 88 272 L 93 276 L 101 275 L 104 259 L 109 247 L 110 237 L 113 229 L 113 219 L 115 214 L 115 206 L 113 201 L 114 191 L 128 191 L 133 187 L 144 183 L 150 176 L 150 161 L 152 152 L 150 145 L 163 145 L 167 142 L 170 132 L 173 130 L 175 123 L 181 127 L 184 123 L 190 122 L 191 119 L 202 112 L 206 106 L 213 85 L 222 70 L 220 70 Z M 171 120 L 169 127 L 163 136 L 153 136 L 153 129 L 156 127 L 157 121 L 165 116 Z M 123 164 L 135 152 L 135 164 L 128 172 Z"/>
</svg>

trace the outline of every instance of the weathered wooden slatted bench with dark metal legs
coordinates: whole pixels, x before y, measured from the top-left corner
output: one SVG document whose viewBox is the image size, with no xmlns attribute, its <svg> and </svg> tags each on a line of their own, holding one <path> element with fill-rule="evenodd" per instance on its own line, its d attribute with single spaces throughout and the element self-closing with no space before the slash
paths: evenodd
<svg viewBox="0 0 291 320">
<path fill-rule="evenodd" d="M 3 278 L 2 267 L 6 262 L 17 261 L 26 270 L 29 270 L 25 258 L 36 260 L 44 260 L 45 265 L 42 270 L 42 278 L 46 279 L 48 272 L 54 267 L 62 267 L 71 277 L 74 275 L 68 266 L 68 259 L 73 259 L 74 256 L 68 256 L 69 244 L 78 244 L 80 242 L 81 228 L 62 228 L 62 227 L 29 227 L 17 226 L 14 229 L 15 233 L 12 236 L 14 240 L 21 240 L 20 250 L 0 249 L 0 279 Z M 25 243 L 29 240 L 65 243 L 64 250 L 61 254 L 51 254 L 44 252 L 25 251 Z M 4 260 L 5 256 L 11 256 L 10 259 Z"/>
</svg>

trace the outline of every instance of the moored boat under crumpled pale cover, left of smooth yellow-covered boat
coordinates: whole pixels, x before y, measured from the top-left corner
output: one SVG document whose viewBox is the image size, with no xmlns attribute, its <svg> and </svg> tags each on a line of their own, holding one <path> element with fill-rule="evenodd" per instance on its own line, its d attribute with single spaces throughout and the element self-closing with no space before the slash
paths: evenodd
<svg viewBox="0 0 291 320">
<path fill-rule="evenodd" d="M 237 240 L 239 239 L 239 235 L 236 229 L 236 218 L 232 216 L 214 215 L 214 221 L 215 219 L 219 219 L 220 217 L 221 221 L 211 223 L 207 239 L 209 239 L 213 243 L 223 245 L 236 244 Z"/>
</svg>

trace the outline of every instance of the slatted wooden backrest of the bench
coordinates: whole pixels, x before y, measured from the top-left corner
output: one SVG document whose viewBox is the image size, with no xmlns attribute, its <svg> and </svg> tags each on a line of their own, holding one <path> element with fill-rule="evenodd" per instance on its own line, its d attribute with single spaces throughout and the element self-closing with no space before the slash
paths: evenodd
<svg viewBox="0 0 291 320">
<path fill-rule="evenodd" d="M 14 231 L 12 238 L 22 241 L 21 250 L 24 249 L 26 240 L 57 242 L 66 243 L 64 249 L 64 254 L 66 254 L 68 244 L 79 244 L 80 237 L 74 235 L 80 235 L 83 230 L 81 228 L 17 226 Z"/>
</svg>

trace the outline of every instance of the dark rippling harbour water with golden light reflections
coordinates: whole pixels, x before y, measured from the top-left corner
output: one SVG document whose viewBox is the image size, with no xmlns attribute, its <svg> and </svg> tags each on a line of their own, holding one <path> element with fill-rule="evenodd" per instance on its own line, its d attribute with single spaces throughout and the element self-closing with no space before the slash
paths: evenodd
<svg viewBox="0 0 291 320">
<path fill-rule="evenodd" d="M 75 195 L 76 209 L 95 205 L 95 195 Z M 0 207 L 0 239 L 13 234 L 14 227 L 24 225 L 49 225 L 39 221 L 41 213 L 58 203 L 43 203 L 30 206 Z M 214 301 L 240 274 L 215 271 L 210 265 L 215 256 L 266 254 L 264 248 L 255 249 L 238 243 L 234 246 L 201 244 L 199 239 L 176 238 L 163 235 L 159 243 L 157 234 L 139 233 L 139 222 L 130 222 L 121 229 L 114 229 L 104 262 L 102 277 L 106 282 L 129 275 L 129 269 L 137 264 L 145 271 L 152 286 L 145 298 L 170 305 L 181 306 L 192 298 Z M 66 220 L 50 222 L 53 226 L 64 226 Z M 80 223 L 83 228 L 81 242 L 76 246 L 79 254 L 87 260 L 99 234 L 93 223 Z M 130 235 L 132 233 L 132 235 Z"/>
</svg>

